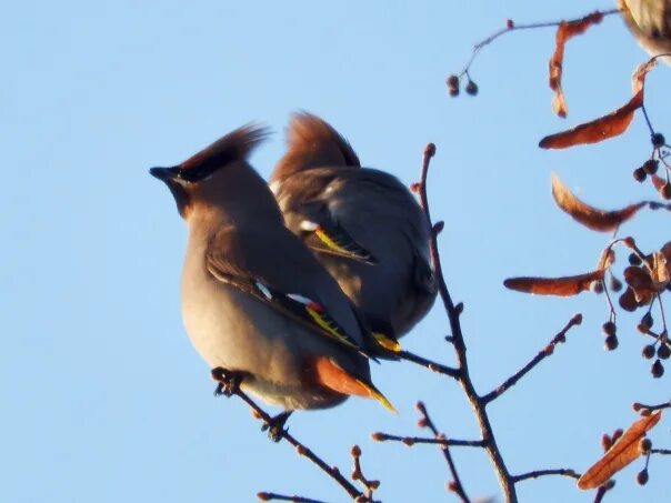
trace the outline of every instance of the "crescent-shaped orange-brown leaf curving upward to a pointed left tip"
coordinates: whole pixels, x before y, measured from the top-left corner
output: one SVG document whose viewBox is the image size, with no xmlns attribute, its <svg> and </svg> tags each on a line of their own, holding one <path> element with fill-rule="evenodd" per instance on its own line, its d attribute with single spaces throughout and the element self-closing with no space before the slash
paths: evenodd
<svg viewBox="0 0 671 503">
<path fill-rule="evenodd" d="M 554 198 L 557 205 L 569 213 L 573 220 L 593 231 L 600 232 L 614 231 L 623 222 L 632 218 L 637 211 L 647 205 L 644 202 L 639 202 L 629 204 L 621 210 L 599 210 L 585 204 L 573 195 L 554 173 L 552 173 L 552 197 Z"/>
</svg>

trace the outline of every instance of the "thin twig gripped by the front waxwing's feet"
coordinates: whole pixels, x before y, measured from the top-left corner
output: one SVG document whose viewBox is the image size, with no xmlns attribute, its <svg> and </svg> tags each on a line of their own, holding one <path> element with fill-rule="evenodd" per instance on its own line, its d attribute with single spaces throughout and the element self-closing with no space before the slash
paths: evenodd
<svg viewBox="0 0 671 503">
<path fill-rule="evenodd" d="M 217 371 L 217 372 L 216 372 Z M 239 396 L 244 403 L 247 403 L 250 409 L 254 412 L 254 415 L 263 421 L 267 426 L 272 425 L 272 418 L 263 409 L 261 409 L 252 399 L 249 398 L 247 393 L 244 393 L 238 383 L 231 381 L 231 373 L 223 369 L 216 369 L 212 371 L 212 376 L 220 382 L 224 388 L 226 395 L 236 395 Z M 340 470 L 336 466 L 329 466 L 326 461 L 319 457 L 310 447 L 306 446 L 303 443 L 299 442 L 291 433 L 287 430 L 281 429 L 278 434 L 279 440 L 286 440 L 291 445 L 296 447 L 296 452 L 299 455 L 306 456 L 312 463 L 314 463 L 322 472 L 329 475 L 333 481 L 336 481 L 349 495 L 352 500 L 360 499 L 362 496 L 361 491 L 359 491 L 354 485 L 352 485 L 342 474 Z M 363 500 L 368 501 L 368 499 Z"/>
</svg>

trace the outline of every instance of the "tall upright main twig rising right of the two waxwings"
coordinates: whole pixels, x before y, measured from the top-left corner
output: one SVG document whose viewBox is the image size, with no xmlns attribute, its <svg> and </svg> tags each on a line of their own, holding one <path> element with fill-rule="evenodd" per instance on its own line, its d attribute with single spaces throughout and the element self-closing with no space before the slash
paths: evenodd
<svg viewBox="0 0 671 503">
<path fill-rule="evenodd" d="M 435 145 L 433 143 L 427 144 L 422 157 L 420 182 L 418 189 L 421 208 L 424 211 L 424 214 L 427 215 L 427 220 L 429 221 L 429 224 L 431 224 L 431 228 L 433 225 L 431 222 L 431 212 L 429 210 L 429 200 L 427 197 L 427 175 L 429 173 L 429 164 L 431 158 L 434 154 Z M 475 388 L 473 386 L 473 382 L 469 373 L 467 348 L 465 342 L 463 340 L 463 334 L 461 332 L 461 322 L 459 319 L 463 306 L 462 304 L 458 304 L 459 308 L 454 305 L 454 302 L 452 301 L 452 298 L 450 295 L 450 291 L 448 290 L 448 285 L 445 283 L 440 262 L 440 254 L 438 253 L 438 234 L 435 232 L 431 233 L 430 247 L 431 261 L 433 263 L 433 268 L 435 270 L 435 275 L 438 279 L 438 291 L 444 305 L 445 312 L 448 313 L 448 320 L 450 322 L 450 329 L 452 334 L 452 345 L 454 348 L 454 352 L 457 353 L 457 363 L 458 369 L 460 370 L 459 383 L 461 384 L 461 388 L 464 394 L 467 395 L 467 399 L 471 405 L 471 409 L 473 410 L 473 414 L 475 415 L 475 419 L 480 426 L 480 434 L 482 441 L 484 442 L 483 449 L 487 452 L 490 462 L 492 463 L 494 474 L 497 475 L 499 485 L 501 486 L 501 491 L 503 492 L 505 501 L 508 501 L 509 503 L 515 503 L 518 501 L 518 496 L 514 489 L 514 483 L 510 477 L 508 467 L 505 466 L 503 457 L 501 456 L 501 452 L 499 451 L 499 446 L 494 437 L 494 432 L 487 414 L 485 404 L 480 400 L 480 396 L 475 392 Z"/>
</svg>

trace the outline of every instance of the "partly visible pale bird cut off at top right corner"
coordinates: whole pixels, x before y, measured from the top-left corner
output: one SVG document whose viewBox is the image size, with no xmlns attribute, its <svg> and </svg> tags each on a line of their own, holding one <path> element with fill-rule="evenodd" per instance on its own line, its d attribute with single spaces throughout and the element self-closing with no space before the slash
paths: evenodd
<svg viewBox="0 0 671 503">
<path fill-rule="evenodd" d="M 650 54 L 671 64 L 671 0 L 615 0 L 631 34 Z"/>
</svg>

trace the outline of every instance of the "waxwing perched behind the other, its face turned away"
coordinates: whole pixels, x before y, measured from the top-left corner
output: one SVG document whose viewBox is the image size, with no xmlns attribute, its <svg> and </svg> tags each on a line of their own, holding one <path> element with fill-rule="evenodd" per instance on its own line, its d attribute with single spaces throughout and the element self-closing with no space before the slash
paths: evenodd
<svg viewBox="0 0 671 503">
<path fill-rule="evenodd" d="M 363 312 L 383 350 L 399 353 L 433 305 L 430 223 L 395 177 L 362 168 L 323 119 L 293 113 L 287 151 L 270 177 L 287 227 L 313 251 Z"/>
</svg>

